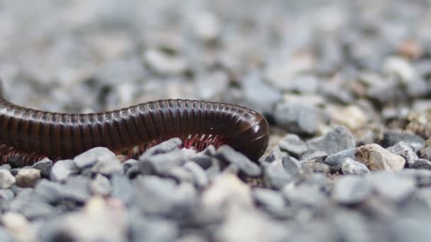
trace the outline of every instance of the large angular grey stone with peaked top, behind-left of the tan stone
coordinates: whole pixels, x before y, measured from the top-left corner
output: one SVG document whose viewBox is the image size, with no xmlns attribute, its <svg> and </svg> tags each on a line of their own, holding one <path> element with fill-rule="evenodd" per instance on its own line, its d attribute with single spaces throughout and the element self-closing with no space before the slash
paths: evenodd
<svg viewBox="0 0 431 242">
<path fill-rule="evenodd" d="M 326 154 L 335 154 L 345 149 L 355 147 L 354 137 L 344 126 L 337 125 L 321 137 L 310 139 L 308 149 L 325 151 Z"/>
</svg>

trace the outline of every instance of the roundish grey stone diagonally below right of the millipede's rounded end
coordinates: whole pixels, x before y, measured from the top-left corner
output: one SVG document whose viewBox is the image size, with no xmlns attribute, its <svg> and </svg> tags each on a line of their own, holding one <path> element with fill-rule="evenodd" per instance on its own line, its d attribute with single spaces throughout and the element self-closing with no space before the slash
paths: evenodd
<svg viewBox="0 0 431 242">
<path fill-rule="evenodd" d="M 284 170 L 284 166 L 280 160 L 273 161 L 267 166 L 264 166 L 263 181 L 268 188 L 280 190 L 293 180 L 293 175 Z"/>
</svg>

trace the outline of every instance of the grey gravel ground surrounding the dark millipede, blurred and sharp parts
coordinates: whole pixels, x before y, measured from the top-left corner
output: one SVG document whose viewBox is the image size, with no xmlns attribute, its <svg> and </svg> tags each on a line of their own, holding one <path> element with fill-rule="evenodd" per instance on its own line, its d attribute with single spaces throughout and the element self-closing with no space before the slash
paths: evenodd
<svg viewBox="0 0 431 242">
<path fill-rule="evenodd" d="M 254 163 L 171 139 L 0 166 L 0 241 L 429 241 L 427 1 L 0 1 L 19 105 L 237 103 L 272 129 Z M 427 140 L 428 139 L 428 140 Z"/>
</svg>

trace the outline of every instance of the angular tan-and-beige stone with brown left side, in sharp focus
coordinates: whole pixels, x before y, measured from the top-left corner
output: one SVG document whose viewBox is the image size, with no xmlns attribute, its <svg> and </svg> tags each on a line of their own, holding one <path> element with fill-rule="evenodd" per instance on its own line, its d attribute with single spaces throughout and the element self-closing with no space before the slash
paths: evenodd
<svg viewBox="0 0 431 242">
<path fill-rule="evenodd" d="M 379 144 L 365 144 L 356 149 L 356 159 L 371 171 L 401 171 L 405 166 L 405 159 L 402 156 L 392 154 L 390 151 L 379 146 Z"/>
</svg>

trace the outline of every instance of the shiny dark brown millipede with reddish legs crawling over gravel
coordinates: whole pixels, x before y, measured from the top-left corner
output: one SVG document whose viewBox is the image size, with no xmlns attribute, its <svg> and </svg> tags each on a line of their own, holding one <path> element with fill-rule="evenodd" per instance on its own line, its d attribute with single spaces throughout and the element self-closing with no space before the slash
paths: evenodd
<svg viewBox="0 0 431 242">
<path fill-rule="evenodd" d="M 199 151 L 228 144 L 252 161 L 268 146 L 267 120 L 240 105 L 167 99 L 103 113 L 51 113 L 10 103 L 0 91 L 1 163 L 72 159 L 96 146 L 136 157 L 172 137 Z"/>
</svg>

